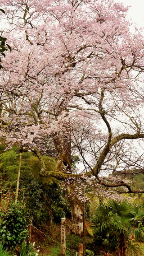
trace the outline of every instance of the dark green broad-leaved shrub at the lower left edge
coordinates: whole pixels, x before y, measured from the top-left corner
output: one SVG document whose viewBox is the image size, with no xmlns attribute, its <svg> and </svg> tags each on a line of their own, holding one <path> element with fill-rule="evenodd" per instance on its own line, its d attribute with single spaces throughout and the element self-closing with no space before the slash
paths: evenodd
<svg viewBox="0 0 144 256">
<path fill-rule="evenodd" d="M 4 248 L 14 248 L 22 244 L 28 236 L 29 215 L 25 207 L 11 205 L 0 213 L 0 242 Z"/>
</svg>

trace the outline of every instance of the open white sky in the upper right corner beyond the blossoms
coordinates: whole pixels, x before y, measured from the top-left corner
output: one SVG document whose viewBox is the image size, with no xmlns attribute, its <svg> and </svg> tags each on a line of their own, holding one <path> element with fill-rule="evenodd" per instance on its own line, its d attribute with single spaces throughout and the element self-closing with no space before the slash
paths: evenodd
<svg viewBox="0 0 144 256">
<path fill-rule="evenodd" d="M 144 0 L 115 0 L 125 6 L 131 5 L 128 15 L 139 27 L 144 27 Z"/>
</svg>

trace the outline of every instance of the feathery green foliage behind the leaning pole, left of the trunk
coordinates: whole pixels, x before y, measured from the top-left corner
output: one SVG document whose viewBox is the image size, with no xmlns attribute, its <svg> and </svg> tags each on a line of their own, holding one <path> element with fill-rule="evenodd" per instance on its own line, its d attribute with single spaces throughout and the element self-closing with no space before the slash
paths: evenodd
<svg viewBox="0 0 144 256">
<path fill-rule="evenodd" d="M 4 149 L 4 145 L 1 144 Z M 54 168 L 55 160 L 47 156 L 43 156 L 46 168 L 50 171 Z M 0 154 L 0 171 L 2 181 L 1 194 L 11 190 L 15 191 L 15 182 L 17 180 L 19 163 L 19 152 L 16 146 L 8 151 Z M 71 216 L 67 200 L 63 199 L 58 181 L 54 178 L 39 177 L 40 162 L 34 154 L 23 152 L 21 162 L 21 173 L 19 183 L 18 200 L 24 201 L 31 216 L 33 216 L 35 224 L 53 219 L 54 222 L 60 223 L 61 217 L 65 215 Z M 55 182 L 56 181 L 56 182 Z M 11 184 L 10 184 L 11 182 Z M 4 186 L 4 184 L 5 186 Z M 5 198 L 4 198 L 5 202 Z M 5 206 L 6 207 L 6 206 Z"/>
</svg>

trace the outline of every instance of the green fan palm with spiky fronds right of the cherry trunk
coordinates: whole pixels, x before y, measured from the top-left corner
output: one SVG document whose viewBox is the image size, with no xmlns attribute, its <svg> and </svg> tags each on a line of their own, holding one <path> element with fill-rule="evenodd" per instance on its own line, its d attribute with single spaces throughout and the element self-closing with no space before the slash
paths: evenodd
<svg viewBox="0 0 144 256">
<path fill-rule="evenodd" d="M 108 200 L 107 204 L 96 205 L 92 220 L 95 243 L 107 240 L 111 250 L 119 251 L 119 255 L 125 255 L 135 221 L 144 218 L 144 211 L 141 208 L 142 205 L 132 204 L 128 200 Z"/>
</svg>

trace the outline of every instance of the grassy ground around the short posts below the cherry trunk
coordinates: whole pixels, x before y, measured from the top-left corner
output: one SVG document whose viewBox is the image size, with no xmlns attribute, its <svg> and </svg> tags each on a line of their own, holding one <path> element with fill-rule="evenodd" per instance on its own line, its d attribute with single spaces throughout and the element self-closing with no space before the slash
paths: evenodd
<svg viewBox="0 0 144 256">
<path fill-rule="evenodd" d="M 66 247 L 69 249 L 66 249 L 66 256 L 75 256 L 76 252 L 78 252 L 78 246 L 82 243 L 82 237 L 76 236 L 70 232 L 70 225 L 67 225 L 66 228 Z M 89 227 L 89 224 L 87 224 L 87 229 L 89 233 L 92 235 L 92 230 Z M 61 241 L 61 225 L 52 223 L 49 224 L 49 226 L 41 228 L 41 231 L 46 235 L 43 235 L 36 229 L 32 230 L 32 240 L 31 242 L 36 242 L 36 247 L 40 249 L 39 256 L 60 256 L 60 241 Z M 53 240 L 58 242 L 54 242 Z M 93 238 L 92 237 L 86 237 L 85 239 L 85 247 L 88 250 L 93 251 Z M 144 256 L 144 243 L 138 242 L 138 245 L 140 247 L 141 256 Z M 1 256 L 1 255 L 0 255 Z M 138 256 L 135 254 L 135 256 Z"/>
</svg>

